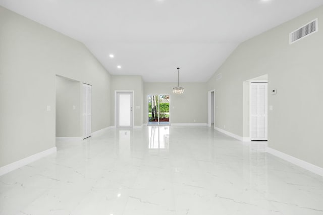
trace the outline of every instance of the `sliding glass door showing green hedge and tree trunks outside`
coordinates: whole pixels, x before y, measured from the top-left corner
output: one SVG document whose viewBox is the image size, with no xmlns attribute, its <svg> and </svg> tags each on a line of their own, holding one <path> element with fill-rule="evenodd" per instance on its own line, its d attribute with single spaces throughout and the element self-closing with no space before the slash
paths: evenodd
<svg viewBox="0 0 323 215">
<path fill-rule="evenodd" d="M 170 124 L 170 95 L 148 95 L 148 125 Z"/>
</svg>

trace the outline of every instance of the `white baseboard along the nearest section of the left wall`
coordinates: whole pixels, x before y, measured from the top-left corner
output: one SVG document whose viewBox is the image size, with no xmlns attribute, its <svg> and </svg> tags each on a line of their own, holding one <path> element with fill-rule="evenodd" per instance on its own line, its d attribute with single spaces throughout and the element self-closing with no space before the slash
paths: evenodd
<svg viewBox="0 0 323 215">
<path fill-rule="evenodd" d="M 49 154 L 56 153 L 56 151 L 57 151 L 56 147 L 52 147 L 52 148 L 49 148 L 45 151 L 39 152 L 37 154 L 33 154 L 29 157 L 23 158 L 23 159 L 18 160 L 14 163 L 11 163 L 9 165 L 1 167 L 0 168 L 0 176 L 5 175 L 11 171 L 17 170 L 18 168 L 21 168 L 27 164 L 30 164 L 30 163 L 32 163 L 42 157 L 45 157 Z"/>
</svg>

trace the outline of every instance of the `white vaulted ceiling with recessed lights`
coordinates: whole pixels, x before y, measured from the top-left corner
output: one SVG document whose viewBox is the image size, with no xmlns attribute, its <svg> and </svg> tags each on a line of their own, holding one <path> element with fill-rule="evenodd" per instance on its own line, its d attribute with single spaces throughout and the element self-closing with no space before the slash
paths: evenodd
<svg viewBox="0 0 323 215">
<path fill-rule="evenodd" d="M 177 82 L 177 67 L 180 82 L 205 82 L 239 43 L 322 4 L 323 0 L 0 0 L 1 6 L 83 42 L 111 74 L 142 75 L 145 82 Z"/>
</svg>

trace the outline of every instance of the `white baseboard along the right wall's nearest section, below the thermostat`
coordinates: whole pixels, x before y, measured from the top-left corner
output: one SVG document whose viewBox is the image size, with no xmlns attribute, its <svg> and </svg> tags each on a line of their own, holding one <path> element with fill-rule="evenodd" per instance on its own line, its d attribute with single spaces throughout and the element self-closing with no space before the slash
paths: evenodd
<svg viewBox="0 0 323 215">
<path fill-rule="evenodd" d="M 317 166 L 312 165 L 310 163 L 307 163 L 304 160 L 298 159 L 298 158 L 293 157 L 293 156 L 291 156 L 289 154 L 285 154 L 285 153 L 283 153 L 281 151 L 278 151 L 276 149 L 273 149 L 271 147 L 267 147 L 266 151 L 268 153 L 273 154 L 273 155 L 275 155 L 277 157 L 280 157 L 280 158 L 282 158 L 282 159 L 284 159 L 284 160 L 286 160 L 286 161 L 288 161 L 288 162 L 290 162 L 292 164 L 295 164 L 295 165 L 297 165 L 297 166 L 299 166 L 301 168 L 304 168 L 305 170 L 308 170 L 308 171 L 313 172 L 313 173 L 315 173 L 317 175 L 323 176 L 323 168 L 320 168 L 320 167 L 317 167 Z"/>
</svg>

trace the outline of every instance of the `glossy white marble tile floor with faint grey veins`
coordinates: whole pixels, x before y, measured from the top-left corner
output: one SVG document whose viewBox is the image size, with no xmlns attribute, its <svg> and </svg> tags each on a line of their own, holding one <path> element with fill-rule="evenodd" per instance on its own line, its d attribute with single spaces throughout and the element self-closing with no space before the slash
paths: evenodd
<svg viewBox="0 0 323 215">
<path fill-rule="evenodd" d="M 318 215 L 323 177 L 208 127 L 110 129 L 0 177 L 0 214 Z"/>
</svg>

